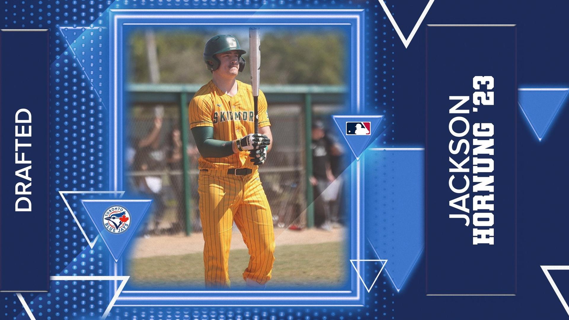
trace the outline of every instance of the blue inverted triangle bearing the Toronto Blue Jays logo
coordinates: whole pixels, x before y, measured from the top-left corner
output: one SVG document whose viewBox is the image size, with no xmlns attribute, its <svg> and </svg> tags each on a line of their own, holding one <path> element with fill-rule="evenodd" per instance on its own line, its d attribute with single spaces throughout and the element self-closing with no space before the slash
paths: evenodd
<svg viewBox="0 0 569 320">
<path fill-rule="evenodd" d="M 152 200 L 81 200 L 115 261 L 125 251 L 151 202 Z"/>
</svg>

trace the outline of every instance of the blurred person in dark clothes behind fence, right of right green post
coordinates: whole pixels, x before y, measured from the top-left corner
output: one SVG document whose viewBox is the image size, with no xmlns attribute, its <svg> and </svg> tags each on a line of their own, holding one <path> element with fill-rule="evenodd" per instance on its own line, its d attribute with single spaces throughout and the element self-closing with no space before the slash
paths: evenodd
<svg viewBox="0 0 569 320">
<path fill-rule="evenodd" d="M 327 188 L 334 181 L 331 155 L 341 154 L 337 143 L 326 136 L 324 122 L 316 120 L 312 124 L 312 177 L 310 182 L 314 190 L 314 222 L 316 227 L 332 230 L 331 200 L 332 192 Z M 337 197 L 337 192 L 336 195 Z"/>
</svg>

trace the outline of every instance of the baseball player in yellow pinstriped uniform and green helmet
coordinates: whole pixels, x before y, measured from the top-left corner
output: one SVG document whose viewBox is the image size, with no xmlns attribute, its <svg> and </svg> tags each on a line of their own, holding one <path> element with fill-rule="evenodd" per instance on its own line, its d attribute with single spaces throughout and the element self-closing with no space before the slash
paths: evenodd
<svg viewBox="0 0 569 320">
<path fill-rule="evenodd" d="M 201 155 L 198 191 L 207 288 L 230 286 L 233 222 L 249 249 L 246 285 L 264 288 L 275 260 L 273 216 L 257 170 L 272 137 L 267 101 L 259 91 L 259 133 L 254 134 L 251 85 L 236 80 L 245 68 L 243 54 L 232 35 L 209 39 L 204 60 L 212 80 L 189 103 L 189 126 Z"/>
</svg>

